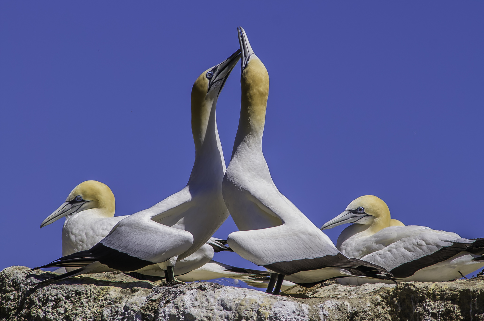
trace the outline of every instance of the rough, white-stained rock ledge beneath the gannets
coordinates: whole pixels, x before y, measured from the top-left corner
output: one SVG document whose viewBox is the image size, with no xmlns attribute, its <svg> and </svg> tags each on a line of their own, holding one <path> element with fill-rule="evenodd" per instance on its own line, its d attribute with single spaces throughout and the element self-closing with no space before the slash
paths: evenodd
<svg viewBox="0 0 484 321">
<path fill-rule="evenodd" d="M 111 272 L 35 286 L 52 275 L 24 266 L 0 272 L 0 320 L 484 320 L 484 277 L 331 284 L 289 296 L 208 282 L 166 286 Z"/>
</svg>

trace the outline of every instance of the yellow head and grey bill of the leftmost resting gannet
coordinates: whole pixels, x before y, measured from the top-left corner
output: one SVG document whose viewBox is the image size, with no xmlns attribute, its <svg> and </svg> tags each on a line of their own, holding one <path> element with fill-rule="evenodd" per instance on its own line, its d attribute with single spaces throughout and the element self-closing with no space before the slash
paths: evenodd
<svg viewBox="0 0 484 321">
<path fill-rule="evenodd" d="M 99 209 L 99 215 L 113 217 L 115 207 L 114 194 L 106 184 L 100 181 L 83 181 L 67 196 L 64 204 L 42 222 L 40 227 L 86 209 Z"/>
</svg>

